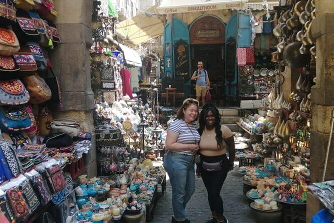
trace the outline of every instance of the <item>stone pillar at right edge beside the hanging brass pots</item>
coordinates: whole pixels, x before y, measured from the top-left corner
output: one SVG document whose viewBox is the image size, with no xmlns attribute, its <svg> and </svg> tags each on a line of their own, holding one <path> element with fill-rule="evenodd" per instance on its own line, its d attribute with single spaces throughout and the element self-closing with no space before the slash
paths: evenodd
<svg viewBox="0 0 334 223">
<path fill-rule="evenodd" d="M 312 123 L 310 138 L 310 179 L 321 181 L 334 109 L 334 5 L 331 0 L 315 0 L 316 18 L 312 35 L 316 37 L 316 84 L 311 88 Z M 334 155 L 334 138 L 329 157 Z M 325 180 L 334 178 L 334 159 L 329 158 Z"/>
</svg>

